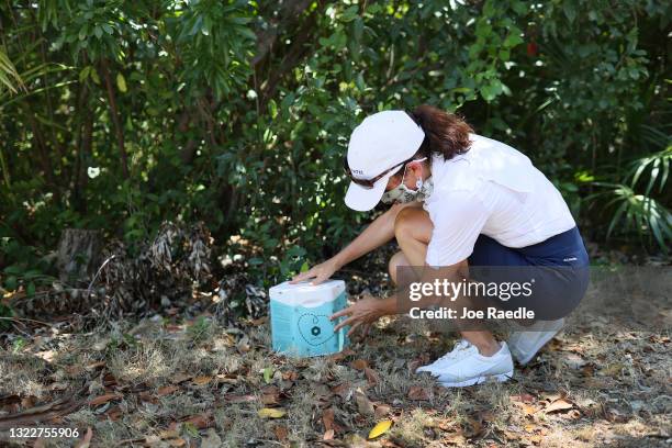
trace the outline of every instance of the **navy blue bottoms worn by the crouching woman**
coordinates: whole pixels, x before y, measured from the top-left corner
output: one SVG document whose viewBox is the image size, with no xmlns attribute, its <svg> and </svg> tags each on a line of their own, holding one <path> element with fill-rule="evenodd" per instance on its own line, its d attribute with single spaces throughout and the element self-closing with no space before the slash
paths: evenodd
<svg viewBox="0 0 672 448">
<path fill-rule="evenodd" d="M 474 280 L 499 284 L 527 282 L 529 288 L 525 292 L 529 294 L 500 294 L 497 299 L 491 298 L 491 302 L 502 310 L 524 306 L 542 321 L 564 317 L 574 310 L 590 280 L 589 255 L 576 227 L 519 248 L 480 235 L 468 262 Z"/>
</svg>

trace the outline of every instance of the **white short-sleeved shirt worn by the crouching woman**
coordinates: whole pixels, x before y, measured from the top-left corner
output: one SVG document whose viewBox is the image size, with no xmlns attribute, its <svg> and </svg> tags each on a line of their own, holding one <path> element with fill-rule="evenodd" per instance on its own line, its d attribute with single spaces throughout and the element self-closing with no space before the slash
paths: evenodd
<svg viewBox="0 0 672 448">
<path fill-rule="evenodd" d="M 576 223 L 556 187 L 524 154 L 470 134 L 469 152 L 432 158 L 434 191 L 423 208 L 434 231 L 429 266 L 451 266 L 471 255 L 480 234 L 503 246 L 525 247 Z"/>
</svg>

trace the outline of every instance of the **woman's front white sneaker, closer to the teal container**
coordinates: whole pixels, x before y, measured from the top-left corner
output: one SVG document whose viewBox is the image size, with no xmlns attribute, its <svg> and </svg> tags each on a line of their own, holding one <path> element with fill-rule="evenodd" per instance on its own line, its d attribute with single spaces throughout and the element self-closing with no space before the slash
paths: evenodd
<svg viewBox="0 0 672 448">
<path fill-rule="evenodd" d="M 488 380 L 502 382 L 513 377 L 513 359 L 506 343 L 502 343 L 500 351 L 493 356 L 483 356 L 475 346 L 460 343 L 450 354 L 439 358 L 443 359 L 440 363 L 435 362 L 432 369 L 427 366 L 421 371 L 432 373 L 445 388 L 463 388 Z"/>
</svg>

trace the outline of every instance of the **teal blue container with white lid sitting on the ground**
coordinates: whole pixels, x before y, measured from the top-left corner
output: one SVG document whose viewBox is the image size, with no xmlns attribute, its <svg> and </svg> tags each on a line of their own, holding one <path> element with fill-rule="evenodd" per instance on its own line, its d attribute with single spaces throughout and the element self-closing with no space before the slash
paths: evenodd
<svg viewBox="0 0 672 448">
<path fill-rule="evenodd" d="M 320 356 L 336 354 L 348 345 L 348 328 L 334 333 L 343 317 L 329 321 L 347 304 L 343 280 L 317 285 L 285 281 L 272 287 L 269 296 L 273 350 L 299 357 Z"/>
</svg>

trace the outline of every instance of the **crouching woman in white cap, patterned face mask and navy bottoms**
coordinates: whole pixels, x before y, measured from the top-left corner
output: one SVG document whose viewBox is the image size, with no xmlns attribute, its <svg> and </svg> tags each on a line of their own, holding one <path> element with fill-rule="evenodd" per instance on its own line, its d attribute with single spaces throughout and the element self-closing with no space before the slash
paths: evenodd
<svg viewBox="0 0 672 448">
<path fill-rule="evenodd" d="M 525 155 L 474 134 L 459 116 L 429 105 L 372 114 L 350 136 L 346 171 L 350 209 L 369 211 L 380 201 L 390 208 L 340 253 L 292 281 L 320 283 L 396 238 L 401 250 L 389 262 L 392 280 L 400 287 L 430 283 L 433 292 L 421 300 L 410 300 L 407 289 L 387 299 L 363 298 L 332 316 L 346 317 L 337 329 L 366 334 L 381 316 L 448 304 L 461 339 L 417 371 L 463 387 L 511 378 L 513 358 L 520 365 L 533 359 L 583 298 L 589 257 L 560 192 Z M 473 284 L 466 279 L 494 284 L 495 296 L 463 293 Z M 502 287 L 511 292 L 514 283 L 516 291 L 527 283 L 534 293 L 503 299 Z M 456 294 L 459 284 L 462 293 Z M 460 318 L 463 310 L 493 306 L 530 310 L 534 317 L 507 341 L 496 340 L 479 314 Z"/>
</svg>

